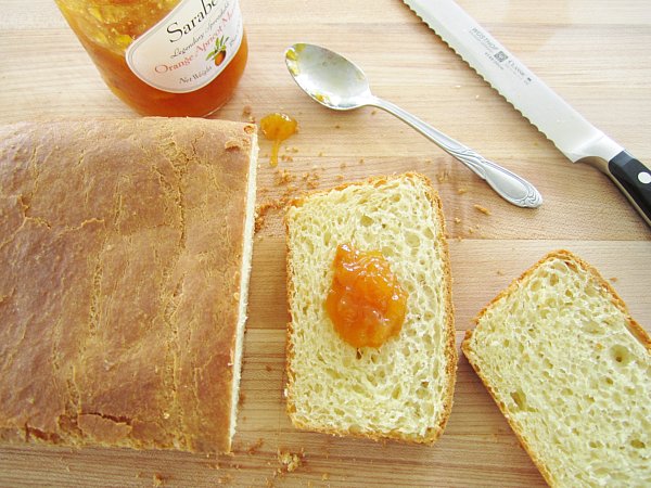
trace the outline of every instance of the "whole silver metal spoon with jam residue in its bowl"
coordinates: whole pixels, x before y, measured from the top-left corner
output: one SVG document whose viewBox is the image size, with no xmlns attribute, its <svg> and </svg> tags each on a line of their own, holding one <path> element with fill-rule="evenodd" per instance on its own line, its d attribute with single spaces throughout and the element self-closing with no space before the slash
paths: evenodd
<svg viewBox="0 0 651 488">
<path fill-rule="evenodd" d="M 531 208 L 542 203 L 540 193 L 523 178 L 489 162 L 399 106 L 374 97 L 363 72 L 342 55 L 320 46 L 296 43 L 285 51 L 285 62 L 296 84 L 321 105 L 335 111 L 367 105 L 385 110 L 468 166 L 507 202 Z"/>
</svg>

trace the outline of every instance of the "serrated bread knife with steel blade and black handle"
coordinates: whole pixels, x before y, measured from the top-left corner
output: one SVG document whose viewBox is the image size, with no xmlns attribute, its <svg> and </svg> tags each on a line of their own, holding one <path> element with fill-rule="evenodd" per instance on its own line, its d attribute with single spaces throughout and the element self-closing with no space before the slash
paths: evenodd
<svg viewBox="0 0 651 488">
<path fill-rule="evenodd" d="M 573 163 L 604 172 L 651 226 L 651 170 L 592 126 L 452 0 L 403 0 Z"/>
</svg>

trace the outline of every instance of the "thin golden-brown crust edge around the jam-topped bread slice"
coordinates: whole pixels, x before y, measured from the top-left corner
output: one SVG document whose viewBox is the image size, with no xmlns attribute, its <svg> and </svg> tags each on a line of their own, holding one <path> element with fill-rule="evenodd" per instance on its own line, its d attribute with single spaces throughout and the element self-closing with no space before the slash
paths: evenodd
<svg viewBox="0 0 651 488">
<path fill-rule="evenodd" d="M 383 184 L 386 184 L 388 181 L 391 181 L 393 179 L 398 179 L 398 178 L 416 178 L 416 179 L 420 179 L 421 181 L 423 181 L 423 183 L 427 188 L 427 193 L 426 193 L 427 198 L 430 200 L 432 207 L 436 211 L 436 215 L 437 215 L 437 217 L 441 221 L 441 226 L 442 226 L 441 234 L 437 236 L 436 244 L 442 246 L 442 255 L 445 256 L 445 267 L 444 267 L 444 277 L 446 280 L 446 297 L 445 297 L 446 307 L 445 308 L 446 308 L 446 318 L 447 318 L 447 322 L 445 324 L 445 333 L 446 333 L 446 337 L 447 337 L 445 355 L 448 360 L 447 369 L 446 369 L 446 373 L 448 375 L 448 384 L 447 384 L 447 388 L 446 388 L 446 396 L 444 399 L 444 411 L 443 411 L 442 418 L 441 418 L 438 424 L 435 427 L 433 427 L 426 436 L 411 438 L 411 437 L 405 436 L 397 432 L 388 433 L 388 434 L 386 434 L 386 433 L 370 433 L 370 432 L 352 433 L 348 431 L 337 429 L 336 427 L 320 428 L 320 427 L 315 427 L 314 425 L 306 425 L 303 422 L 301 422 L 301 420 L 297 419 L 296 415 L 294 415 L 295 407 L 293 404 L 293 398 L 291 397 L 291 390 L 292 390 L 291 386 L 294 383 L 294 376 L 295 376 L 294 371 L 292 369 L 292 360 L 294 357 L 294 351 L 293 351 L 293 346 L 292 346 L 292 334 L 293 334 L 294 330 L 293 330 L 293 324 L 292 324 L 291 311 L 292 311 L 292 306 L 293 306 L 293 295 L 294 295 L 295 291 L 292 286 L 292 284 L 294 283 L 293 273 L 292 273 L 292 269 L 291 269 L 292 248 L 290 246 L 289 240 L 285 240 L 285 244 L 286 244 L 285 267 L 286 267 L 288 313 L 290 317 L 290 320 L 288 321 L 286 342 L 285 342 L 285 347 L 286 347 L 286 349 L 285 349 L 285 351 L 286 351 L 285 372 L 288 375 L 288 385 L 285 387 L 285 396 L 286 396 L 286 411 L 288 411 L 288 414 L 289 414 L 292 423 L 294 424 L 294 426 L 296 428 L 309 429 L 309 431 L 319 432 L 322 434 L 334 435 L 334 436 L 359 437 L 359 438 L 367 438 L 367 439 L 372 439 L 372 440 L 381 440 L 381 439 L 388 438 L 388 439 L 393 439 L 393 440 L 397 440 L 397 441 L 401 441 L 401 442 L 426 444 L 426 445 L 433 445 L 438 439 L 438 437 L 441 437 L 441 435 L 443 434 L 443 432 L 445 429 L 445 426 L 447 424 L 447 421 L 449 419 L 449 415 L 450 415 L 451 409 L 452 409 L 452 398 L 454 398 L 454 393 L 455 393 L 455 382 L 456 382 L 458 357 L 457 357 L 457 347 L 456 347 L 454 305 L 452 305 L 452 293 L 451 293 L 452 277 L 451 277 L 450 266 L 449 266 L 449 252 L 448 252 L 448 246 L 447 246 L 447 240 L 445 239 L 445 233 L 446 233 L 445 232 L 445 217 L 443 214 L 443 205 L 441 203 L 441 198 L 438 197 L 438 194 L 434 190 L 434 187 L 432 185 L 431 180 L 421 174 L 406 172 L 406 174 L 396 175 L 396 176 L 378 176 L 378 177 L 368 178 L 367 180 L 362 180 L 362 181 L 345 182 L 345 183 L 342 183 L 332 189 L 315 191 L 307 195 L 298 197 L 290 203 L 290 205 L 288 206 L 288 210 L 291 207 L 301 207 L 306 202 L 306 200 L 308 200 L 312 196 L 316 196 L 316 195 L 327 194 L 331 191 L 341 191 L 341 190 L 345 190 L 348 187 L 356 187 L 356 185 L 374 184 L 374 185 L 381 187 Z M 288 221 L 286 213 L 284 216 L 284 227 L 285 227 L 285 234 L 289 235 L 289 221 Z"/>
</svg>

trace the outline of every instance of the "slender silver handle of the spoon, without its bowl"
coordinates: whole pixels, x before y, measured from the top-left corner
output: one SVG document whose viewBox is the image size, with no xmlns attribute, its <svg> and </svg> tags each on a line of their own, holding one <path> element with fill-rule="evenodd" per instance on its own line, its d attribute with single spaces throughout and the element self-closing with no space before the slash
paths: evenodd
<svg viewBox="0 0 651 488">
<path fill-rule="evenodd" d="M 532 183 L 514 172 L 486 159 L 481 154 L 446 136 L 439 130 L 436 130 L 434 127 L 425 124 L 409 112 L 376 97 L 373 97 L 367 103 L 376 106 L 378 108 L 382 108 L 409 124 L 441 149 L 468 166 L 480 178 L 486 180 L 493 190 L 507 202 L 519 207 L 528 208 L 536 208 L 542 204 L 542 196 Z"/>
</svg>

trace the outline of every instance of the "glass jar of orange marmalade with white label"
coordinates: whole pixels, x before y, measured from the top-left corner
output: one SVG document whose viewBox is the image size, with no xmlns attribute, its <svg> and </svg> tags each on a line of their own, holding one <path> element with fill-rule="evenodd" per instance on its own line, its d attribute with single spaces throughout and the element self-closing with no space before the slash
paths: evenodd
<svg viewBox="0 0 651 488">
<path fill-rule="evenodd" d="M 143 115 L 205 116 L 247 57 L 238 0 L 56 0 L 111 90 Z"/>
</svg>

